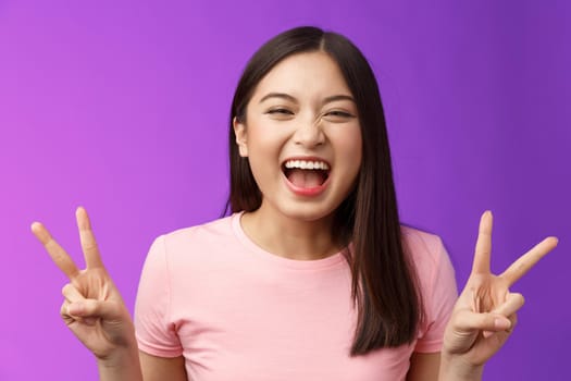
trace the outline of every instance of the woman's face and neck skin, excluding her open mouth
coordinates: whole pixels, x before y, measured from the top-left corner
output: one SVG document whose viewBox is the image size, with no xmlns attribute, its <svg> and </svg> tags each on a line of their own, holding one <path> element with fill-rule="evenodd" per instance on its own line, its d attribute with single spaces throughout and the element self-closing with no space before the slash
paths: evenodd
<svg viewBox="0 0 571 381">
<path fill-rule="evenodd" d="M 334 211 L 351 192 L 362 162 L 357 103 L 337 63 L 325 52 L 293 54 L 256 86 L 246 118 L 233 121 L 236 144 L 261 194 L 240 223 L 264 250 L 296 260 L 343 249 L 331 236 Z M 287 185 L 282 165 L 311 157 L 328 163 L 327 186 L 306 196 Z M 272 223 L 268 223 L 272 221 Z"/>
</svg>

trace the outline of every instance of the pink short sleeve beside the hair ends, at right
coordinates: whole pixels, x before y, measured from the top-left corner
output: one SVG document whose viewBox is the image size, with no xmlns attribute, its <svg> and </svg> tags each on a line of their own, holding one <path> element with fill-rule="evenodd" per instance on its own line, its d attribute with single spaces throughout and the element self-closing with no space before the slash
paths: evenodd
<svg viewBox="0 0 571 381">
<path fill-rule="evenodd" d="M 444 331 L 458 298 L 458 288 L 454 267 L 440 238 L 431 235 L 424 241 L 431 260 L 423 261 L 421 266 L 424 268 L 419 269 L 419 272 L 424 272 L 421 287 L 425 321 L 414 352 L 434 353 L 442 349 Z"/>
</svg>

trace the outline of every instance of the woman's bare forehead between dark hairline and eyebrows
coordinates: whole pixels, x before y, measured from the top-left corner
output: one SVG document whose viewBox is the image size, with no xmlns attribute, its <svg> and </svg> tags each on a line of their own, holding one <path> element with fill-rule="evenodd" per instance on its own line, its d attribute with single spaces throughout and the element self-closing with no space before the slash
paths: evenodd
<svg viewBox="0 0 571 381">
<path fill-rule="evenodd" d="M 322 51 L 297 53 L 278 62 L 260 81 L 252 100 L 274 91 L 298 99 L 351 95 L 337 63 Z"/>
</svg>

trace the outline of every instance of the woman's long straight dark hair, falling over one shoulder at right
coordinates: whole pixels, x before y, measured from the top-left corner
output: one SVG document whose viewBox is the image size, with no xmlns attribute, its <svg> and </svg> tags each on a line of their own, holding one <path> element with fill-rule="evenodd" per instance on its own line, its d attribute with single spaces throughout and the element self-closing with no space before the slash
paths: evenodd
<svg viewBox="0 0 571 381">
<path fill-rule="evenodd" d="M 357 185 L 336 209 L 332 236 L 352 242 L 347 260 L 358 320 L 351 355 L 411 343 L 423 308 L 414 268 L 404 250 L 385 115 L 376 79 L 359 49 L 339 34 L 297 27 L 265 42 L 250 59 L 234 94 L 229 120 L 231 193 L 227 211 L 253 211 L 262 202 L 247 158 L 239 156 L 233 121 L 245 121 L 259 82 L 283 59 L 324 51 L 339 66 L 357 103 L 362 162 Z"/>
</svg>

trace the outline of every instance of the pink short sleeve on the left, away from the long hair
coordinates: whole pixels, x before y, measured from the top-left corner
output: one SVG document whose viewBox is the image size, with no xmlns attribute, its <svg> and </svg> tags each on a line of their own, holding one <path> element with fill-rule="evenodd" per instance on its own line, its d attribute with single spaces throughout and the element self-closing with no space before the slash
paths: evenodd
<svg viewBox="0 0 571 381">
<path fill-rule="evenodd" d="M 159 357 L 177 357 L 183 348 L 170 321 L 171 279 L 165 236 L 151 245 L 135 303 L 135 331 L 139 349 Z"/>
</svg>

